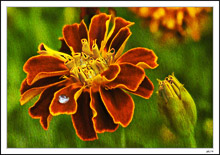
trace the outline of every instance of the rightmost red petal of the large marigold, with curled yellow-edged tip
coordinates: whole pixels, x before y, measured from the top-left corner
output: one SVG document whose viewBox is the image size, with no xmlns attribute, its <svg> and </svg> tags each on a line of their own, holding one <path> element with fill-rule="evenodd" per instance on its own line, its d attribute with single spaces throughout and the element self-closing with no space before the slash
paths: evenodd
<svg viewBox="0 0 220 155">
<path fill-rule="evenodd" d="M 134 65 L 142 65 L 143 68 L 153 69 L 158 66 L 157 59 L 157 56 L 152 50 L 138 47 L 124 53 L 121 57 L 118 58 L 116 63 L 127 62 Z"/>
</svg>

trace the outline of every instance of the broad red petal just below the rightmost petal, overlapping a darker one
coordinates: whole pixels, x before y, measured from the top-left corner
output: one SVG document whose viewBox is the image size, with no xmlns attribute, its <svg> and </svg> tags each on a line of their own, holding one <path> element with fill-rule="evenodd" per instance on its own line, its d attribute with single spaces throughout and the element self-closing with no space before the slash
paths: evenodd
<svg viewBox="0 0 220 155">
<path fill-rule="evenodd" d="M 109 89 L 119 87 L 130 91 L 136 91 L 145 78 L 144 70 L 128 63 L 119 64 L 119 66 L 121 69 L 120 73 L 113 81 L 107 83 L 106 86 Z"/>
</svg>

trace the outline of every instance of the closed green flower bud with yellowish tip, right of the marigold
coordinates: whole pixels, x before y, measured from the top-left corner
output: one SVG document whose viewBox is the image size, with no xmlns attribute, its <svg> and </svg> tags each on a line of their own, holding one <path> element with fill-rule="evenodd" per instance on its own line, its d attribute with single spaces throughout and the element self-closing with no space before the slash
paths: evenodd
<svg viewBox="0 0 220 155">
<path fill-rule="evenodd" d="M 165 124 L 179 136 L 194 134 L 197 112 L 191 95 L 174 74 L 158 81 L 158 107 Z"/>
</svg>

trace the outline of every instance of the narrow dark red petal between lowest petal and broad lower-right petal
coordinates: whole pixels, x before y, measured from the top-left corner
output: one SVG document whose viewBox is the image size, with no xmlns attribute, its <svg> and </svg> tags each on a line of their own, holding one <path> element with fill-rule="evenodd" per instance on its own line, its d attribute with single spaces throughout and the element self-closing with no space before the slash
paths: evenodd
<svg viewBox="0 0 220 155">
<path fill-rule="evenodd" d="M 119 125 L 115 124 L 112 117 L 109 115 L 106 107 L 102 102 L 99 92 L 93 92 L 91 88 L 90 97 L 90 106 L 94 111 L 92 120 L 96 132 L 114 132 L 115 130 L 117 130 Z"/>
</svg>

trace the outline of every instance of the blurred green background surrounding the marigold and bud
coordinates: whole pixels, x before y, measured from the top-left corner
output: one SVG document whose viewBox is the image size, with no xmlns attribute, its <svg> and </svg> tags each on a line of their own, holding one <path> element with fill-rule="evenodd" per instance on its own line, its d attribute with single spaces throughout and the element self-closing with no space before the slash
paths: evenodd
<svg viewBox="0 0 220 155">
<path fill-rule="evenodd" d="M 149 28 L 142 27 L 142 20 L 127 8 L 114 8 L 116 15 L 135 22 L 132 35 L 124 51 L 135 47 L 153 49 L 159 66 L 146 70 L 155 86 L 149 100 L 132 95 L 135 111 L 131 124 L 119 127 L 113 133 L 98 134 L 96 141 L 81 141 L 75 133 L 71 117 L 53 117 L 48 131 L 43 130 L 39 119 L 32 119 L 28 108 L 37 100 L 21 106 L 20 85 L 26 74 L 23 65 L 37 55 L 37 47 L 45 43 L 52 49 L 60 48 L 58 37 L 65 24 L 80 22 L 80 8 L 7 8 L 7 147 L 8 148 L 176 148 L 172 133 L 164 128 L 157 108 L 157 78 L 164 79 L 172 72 L 192 95 L 198 112 L 195 139 L 198 148 L 213 147 L 213 31 L 210 22 L 198 42 L 186 38 L 183 42 L 170 39 L 161 42 Z M 107 8 L 101 12 L 108 13 Z M 88 24 L 88 23 L 87 23 Z"/>
</svg>

